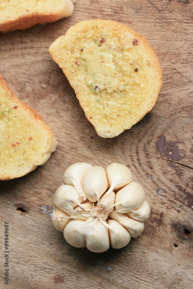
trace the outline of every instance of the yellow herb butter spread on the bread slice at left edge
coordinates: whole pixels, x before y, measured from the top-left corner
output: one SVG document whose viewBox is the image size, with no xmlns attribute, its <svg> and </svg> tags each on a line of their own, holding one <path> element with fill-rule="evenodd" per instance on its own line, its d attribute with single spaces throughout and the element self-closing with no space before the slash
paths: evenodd
<svg viewBox="0 0 193 289">
<path fill-rule="evenodd" d="M 17 167 L 38 164 L 43 159 L 47 131 L 41 121 L 34 122 L 31 114 L 0 87 L 0 169 L 8 164 Z"/>
</svg>

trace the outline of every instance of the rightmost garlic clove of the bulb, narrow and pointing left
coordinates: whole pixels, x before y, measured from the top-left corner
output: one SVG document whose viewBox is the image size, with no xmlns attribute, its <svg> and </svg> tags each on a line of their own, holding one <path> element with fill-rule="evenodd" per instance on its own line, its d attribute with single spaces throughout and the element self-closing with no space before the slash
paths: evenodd
<svg viewBox="0 0 193 289">
<path fill-rule="evenodd" d="M 135 210 L 131 210 L 126 213 L 127 216 L 138 220 L 138 221 L 147 221 L 150 216 L 151 208 L 147 201 L 144 201 L 141 206 Z"/>
</svg>

